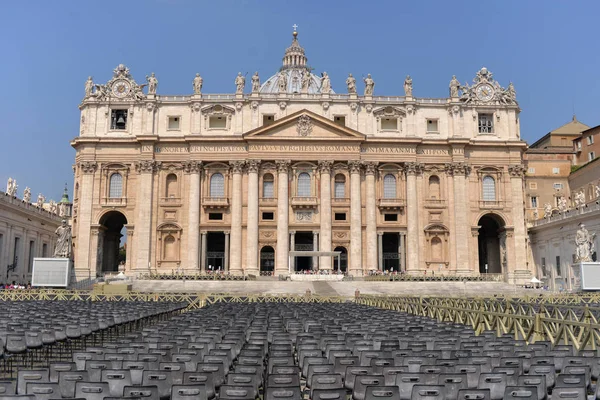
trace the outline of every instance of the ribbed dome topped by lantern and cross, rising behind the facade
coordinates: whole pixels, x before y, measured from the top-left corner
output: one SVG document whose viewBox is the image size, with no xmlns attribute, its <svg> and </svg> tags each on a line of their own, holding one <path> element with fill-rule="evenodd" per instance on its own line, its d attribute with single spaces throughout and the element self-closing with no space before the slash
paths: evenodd
<svg viewBox="0 0 600 400">
<path fill-rule="evenodd" d="M 298 32 L 294 31 L 293 36 L 291 46 L 285 50 L 283 66 L 261 85 L 259 93 L 321 93 L 321 77 L 311 72 L 304 48 L 298 43 Z"/>
</svg>

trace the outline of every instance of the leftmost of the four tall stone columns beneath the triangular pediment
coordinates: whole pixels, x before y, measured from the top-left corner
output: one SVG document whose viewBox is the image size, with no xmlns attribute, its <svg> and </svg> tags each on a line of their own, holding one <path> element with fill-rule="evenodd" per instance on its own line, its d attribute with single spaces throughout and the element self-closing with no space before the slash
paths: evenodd
<svg viewBox="0 0 600 400">
<path fill-rule="evenodd" d="M 258 274 L 258 169 L 260 160 L 248 160 L 248 221 L 246 227 L 246 272 Z"/>
</svg>

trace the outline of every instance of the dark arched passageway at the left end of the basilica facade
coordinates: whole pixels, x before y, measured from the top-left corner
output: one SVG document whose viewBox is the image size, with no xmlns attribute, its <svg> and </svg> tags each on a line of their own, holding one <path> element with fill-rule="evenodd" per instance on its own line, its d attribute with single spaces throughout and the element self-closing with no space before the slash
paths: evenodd
<svg viewBox="0 0 600 400">
<path fill-rule="evenodd" d="M 121 243 L 127 237 L 125 225 L 127 218 L 118 211 L 110 211 L 100 218 L 101 233 L 98 235 L 98 270 L 117 272 L 119 264 L 125 263 L 127 243 Z"/>
</svg>

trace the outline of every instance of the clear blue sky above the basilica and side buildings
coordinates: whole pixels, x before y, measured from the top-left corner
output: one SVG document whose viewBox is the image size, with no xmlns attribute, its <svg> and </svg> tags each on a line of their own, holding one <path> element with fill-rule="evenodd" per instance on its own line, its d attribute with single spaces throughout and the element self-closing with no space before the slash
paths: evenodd
<svg viewBox="0 0 600 400">
<path fill-rule="evenodd" d="M 522 108 L 532 143 L 573 114 L 600 124 L 598 1 L 14 1 L 0 5 L 0 183 L 17 179 L 59 199 L 72 189 L 84 82 L 124 63 L 159 94 L 233 92 L 238 71 L 277 71 L 298 24 L 309 63 L 344 92 L 349 72 L 371 73 L 376 95 L 445 97 L 455 74 L 486 66 Z M 362 90 L 362 85 L 360 89 Z"/>
</svg>

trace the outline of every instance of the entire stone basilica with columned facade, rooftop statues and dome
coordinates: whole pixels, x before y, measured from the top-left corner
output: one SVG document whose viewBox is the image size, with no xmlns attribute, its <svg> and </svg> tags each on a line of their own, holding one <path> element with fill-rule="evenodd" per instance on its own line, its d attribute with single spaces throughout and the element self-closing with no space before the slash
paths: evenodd
<svg viewBox="0 0 600 400">
<path fill-rule="evenodd" d="M 334 93 L 294 32 L 279 72 L 235 78 L 235 93 L 147 93 L 120 65 L 86 83 L 73 233 L 81 278 L 117 268 L 123 227 L 132 274 L 334 269 L 354 276 L 531 277 L 526 263 L 519 107 L 482 68 L 450 96 Z M 362 82 L 360 82 L 362 87 Z M 233 85 L 232 85 L 233 89 Z M 441 92 L 446 92 L 441 88 Z M 374 93 L 375 92 L 375 93 Z"/>
</svg>

